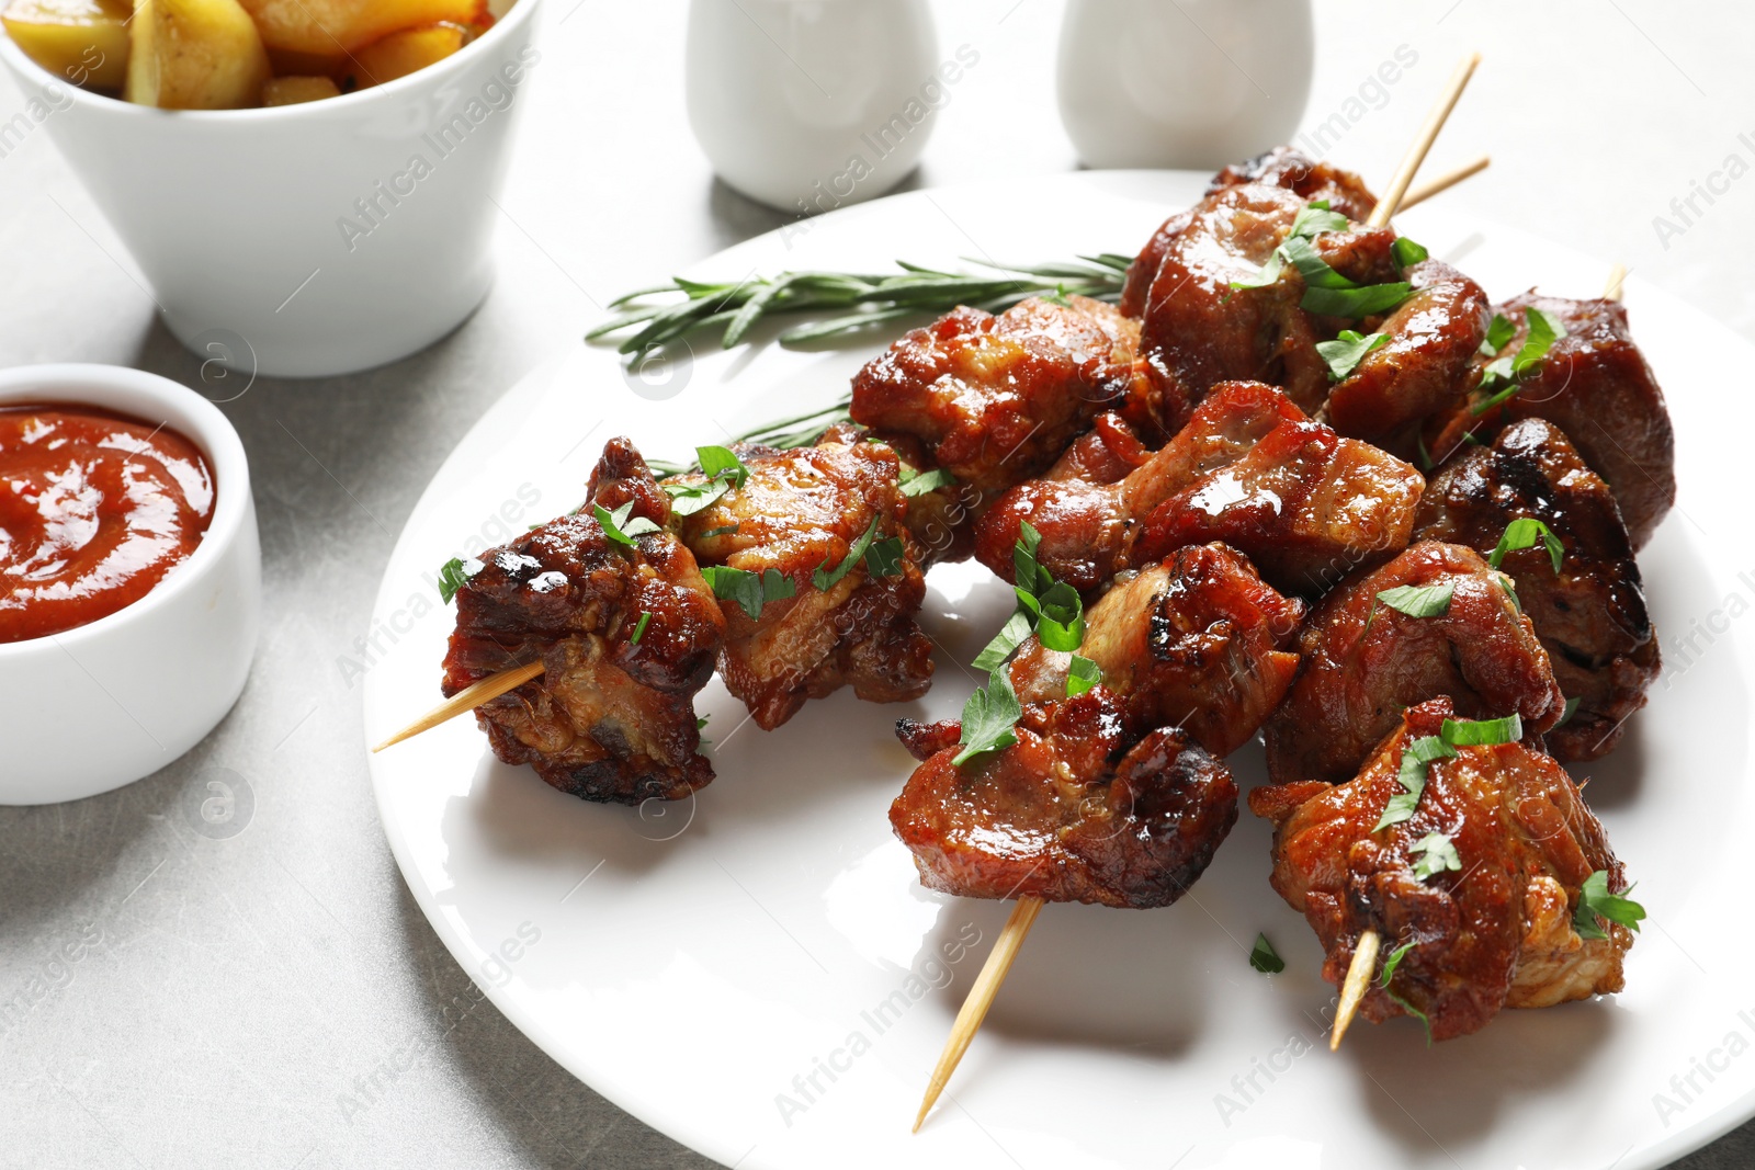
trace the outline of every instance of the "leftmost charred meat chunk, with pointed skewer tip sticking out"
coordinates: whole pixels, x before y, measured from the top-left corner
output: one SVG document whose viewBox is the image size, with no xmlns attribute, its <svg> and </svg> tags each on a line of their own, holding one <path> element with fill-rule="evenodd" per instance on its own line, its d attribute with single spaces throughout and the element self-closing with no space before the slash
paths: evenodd
<svg viewBox="0 0 1755 1170">
<path fill-rule="evenodd" d="M 662 530 L 669 502 L 627 439 L 604 447 L 593 498 L 632 502 L 630 523 L 660 531 L 623 546 L 581 512 L 484 553 L 456 593 L 444 693 L 542 660 L 542 675 L 476 709 L 493 754 L 586 800 L 676 800 L 713 779 L 695 693 L 713 677 L 725 619 L 695 558 Z"/>
</svg>

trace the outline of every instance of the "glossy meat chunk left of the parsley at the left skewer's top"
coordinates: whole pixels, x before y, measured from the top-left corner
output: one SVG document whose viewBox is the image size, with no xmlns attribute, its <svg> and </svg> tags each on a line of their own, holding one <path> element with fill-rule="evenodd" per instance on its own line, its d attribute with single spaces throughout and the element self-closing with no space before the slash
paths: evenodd
<svg viewBox="0 0 1755 1170">
<path fill-rule="evenodd" d="M 1174 230 L 1141 310 L 1139 354 L 1150 391 L 1143 407 L 1130 407 L 1128 421 L 1143 426 L 1148 416 L 1164 433 L 1174 433 L 1213 386 L 1234 379 L 1279 386 L 1311 414 L 1322 407 L 1329 363 L 1316 344 L 1353 323 L 1306 312 L 1306 282 L 1293 265 L 1285 265 L 1271 284 L 1232 288 L 1234 281 L 1260 275 L 1304 207 L 1293 191 L 1251 182 L 1223 188 L 1197 203 L 1186 221 L 1165 225 Z M 1358 284 L 1400 281 L 1395 232 L 1388 228 L 1323 232 L 1309 244 L 1330 268 Z"/>
</svg>

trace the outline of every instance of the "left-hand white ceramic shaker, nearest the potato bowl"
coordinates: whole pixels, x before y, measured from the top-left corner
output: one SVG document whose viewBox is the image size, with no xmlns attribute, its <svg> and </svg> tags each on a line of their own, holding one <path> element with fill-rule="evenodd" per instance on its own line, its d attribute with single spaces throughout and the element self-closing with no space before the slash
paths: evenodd
<svg viewBox="0 0 1755 1170">
<path fill-rule="evenodd" d="M 900 182 L 976 61 L 939 61 L 927 0 L 691 0 L 688 123 L 725 182 L 818 214 Z"/>
</svg>

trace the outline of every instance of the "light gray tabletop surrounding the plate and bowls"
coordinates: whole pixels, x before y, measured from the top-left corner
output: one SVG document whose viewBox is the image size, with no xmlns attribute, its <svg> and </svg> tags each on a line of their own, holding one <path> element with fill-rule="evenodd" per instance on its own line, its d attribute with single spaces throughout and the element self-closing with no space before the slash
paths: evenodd
<svg viewBox="0 0 1755 1170">
<path fill-rule="evenodd" d="M 237 709 L 132 788 L 0 809 L 0 1002 L 53 977 L 0 1035 L 0 1165 L 709 1165 L 465 995 L 469 977 L 384 844 L 360 695 L 339 668 L 402 521 L 469 424 L 614 293 L 781 223 L 718 184 L 688 133 L 681 0 L 548 4 L 498 284 L 481 310 L 393 367 L 258 379 L 223 407 L 253 465 L 267 591 Z M 942 46 L 974 46 L 981 67 L 941 111 L 909 186 L 1076 167 L 1053 107 L 1060 11 L 937 0 Z M 1451 63 L 1481 47 L 1488 61 L 1434 165 L 1483 149 L 1495 165 L 1446 198 L 1618 258 L 1755 337 L 1755 289 L 1734 253 L 1755 221 L 1755 181 L 1697 198 L 1680 235 L 1655 225 L 1674 223 L 1671 200 L 1729 154 L 1755 161 L 1737 137 L 1755 132 L 1743 60 L 1755 9 L 1316 11 L 1307 126 L 1348 111 L 1395 46 L 1420 54 L 1379 107 L 1348 114 L 1339 161 L 1386 175 Z M 0 81 L 0 118 L 19 105 Z M 126 251 L 46 135 L 0 158 L 0 365 L 114 361 L 198 384 L 197 360 L 154 321 Z M 77 737 L 77 712 L 67 731 Z M 253 802 L 226 838 L 200 831 L 212 768 L 242 777 Z M 53 967 L 75 937 L 81 958 Z M 407 1045 L 414 1065 L 362 1096 L 360 1079 Z M 1755 1165 L 1755 1126 L 1676 1165 Z"/>
</svg>

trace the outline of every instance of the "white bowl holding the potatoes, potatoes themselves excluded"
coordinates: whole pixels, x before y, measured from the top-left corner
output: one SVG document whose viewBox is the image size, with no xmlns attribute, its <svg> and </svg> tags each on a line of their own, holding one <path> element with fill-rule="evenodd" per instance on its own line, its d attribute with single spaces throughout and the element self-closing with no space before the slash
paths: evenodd
<svg viewBox="0 0 1755 1170">
<path fill-rule="evenodd" d="M 539 7 L 518 0 L 407 77 L 272 109 L 130 105 L 56 79 L 5 35 L 0 60 L 177 340 L 244 372 L 316 377 L 430 346 L 486 296 Z"/>
</svg>

